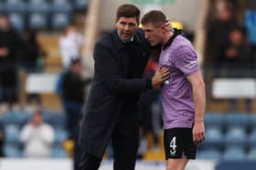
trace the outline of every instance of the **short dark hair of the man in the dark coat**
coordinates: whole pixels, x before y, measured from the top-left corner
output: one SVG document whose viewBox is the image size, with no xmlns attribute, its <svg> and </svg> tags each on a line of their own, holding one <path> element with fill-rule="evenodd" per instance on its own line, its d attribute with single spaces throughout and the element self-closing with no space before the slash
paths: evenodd
<svg viewBox="0 0 256 170">
<path fill-rule="evenodd" d="M 136 21 L 139 23 L 140 15 L 141 12 L 135 5 L 125 4 L 117 8 L 116 20 L 119 20 L 120 17 L 135 17 Z"/>
</svg>

